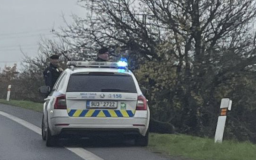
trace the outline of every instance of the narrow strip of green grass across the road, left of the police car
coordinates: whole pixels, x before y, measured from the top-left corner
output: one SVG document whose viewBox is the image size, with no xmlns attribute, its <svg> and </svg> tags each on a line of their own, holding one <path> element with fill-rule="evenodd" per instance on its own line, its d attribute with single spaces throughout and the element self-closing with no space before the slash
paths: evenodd
<svg viewBox="0 0 256 160">
<path fill-rule="evenodd" d="M 35 102 L 27 101 L 27 100 L 10 100 L 8 102 L 4 99 L 0 99 L 0 103 L 8 104 L 11 106 L 27 108 L 27 109 L 32 109 L 32 110 L 35 110 L 38 112 L 43 111 L 43 103 L 35 103 Z"/>
</svg>

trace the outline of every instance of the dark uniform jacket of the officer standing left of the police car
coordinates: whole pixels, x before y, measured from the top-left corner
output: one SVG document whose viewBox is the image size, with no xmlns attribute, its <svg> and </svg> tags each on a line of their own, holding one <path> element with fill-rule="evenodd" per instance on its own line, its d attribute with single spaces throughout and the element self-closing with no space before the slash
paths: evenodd
<svg viewBox="0 0 256 160">
<path fill-rule="evenodd" d="M 53 66 L 52 63 L 50 63 L 50 66 L 44 70 L 44 82 L 45 85 L 51 87 L 51 91 L 61 73 L 62 71 Z"/>
</svg>

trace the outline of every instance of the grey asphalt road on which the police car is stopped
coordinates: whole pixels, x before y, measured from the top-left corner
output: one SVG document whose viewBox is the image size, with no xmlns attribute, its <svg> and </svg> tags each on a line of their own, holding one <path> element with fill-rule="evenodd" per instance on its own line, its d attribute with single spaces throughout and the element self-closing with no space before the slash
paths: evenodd
<svg viewBox="0 0 256 160">
<path fill-rule="evenodd" d="M 0 111 L 33 124 L 38 131 L 41 128 L 42 113 L 4 104 Z M 61 140 L 58 147 L 49 148 L 39 132 L 15 122 L 12 116 L 0 114 L 0 160 L 170 160 L 148 148 L 134 147 L 132 141 Z"/>
</svg>

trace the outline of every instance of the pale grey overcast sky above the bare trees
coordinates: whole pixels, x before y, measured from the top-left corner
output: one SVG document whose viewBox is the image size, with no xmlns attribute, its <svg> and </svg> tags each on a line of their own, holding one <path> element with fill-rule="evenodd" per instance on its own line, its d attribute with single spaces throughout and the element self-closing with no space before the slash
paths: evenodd
<svg viewBox="0 0 256 160">
<path fill-rule="evenodd" d="M 40 36 L 51 37 L 50 30 L 65 26 L 70 15 L 86 14 L 76 4 L 77 0 L 0 0 L 0 68 L 4 65 L 19 66 L 23 58 L 20 47 L 28 56 L 37 55 Z"/>
</svg>

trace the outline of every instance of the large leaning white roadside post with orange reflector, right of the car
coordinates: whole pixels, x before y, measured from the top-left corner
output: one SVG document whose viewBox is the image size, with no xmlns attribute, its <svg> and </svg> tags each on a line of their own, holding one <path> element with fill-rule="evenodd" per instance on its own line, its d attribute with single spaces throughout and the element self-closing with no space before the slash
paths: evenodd
<svg viewBox="0 0 256 160">
<path fill-rule="evenodd" d="M 231 110 L 232 100 L 229 98 L 223 98 L 220 103 L 220 116 L 215 132 L 215 143 L 222 143 L 223 133 L 225 129 L 225 123 L 227 119 L 228 110 Z"/>
</svg>

